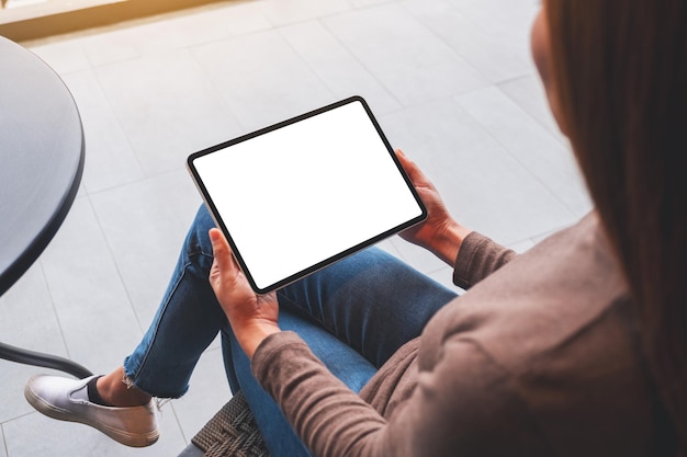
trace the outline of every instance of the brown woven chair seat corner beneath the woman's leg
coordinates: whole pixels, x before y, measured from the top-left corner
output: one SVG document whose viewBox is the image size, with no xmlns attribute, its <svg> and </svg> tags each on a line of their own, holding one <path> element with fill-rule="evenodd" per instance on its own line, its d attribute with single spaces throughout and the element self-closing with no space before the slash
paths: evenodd
<svg viewBox="0 0 687 457">
<path fill-rule="evenodd" d="M 191 438 L 205 457 L 270 457 L 243 392 L 232 399 Z"/>
</svg>

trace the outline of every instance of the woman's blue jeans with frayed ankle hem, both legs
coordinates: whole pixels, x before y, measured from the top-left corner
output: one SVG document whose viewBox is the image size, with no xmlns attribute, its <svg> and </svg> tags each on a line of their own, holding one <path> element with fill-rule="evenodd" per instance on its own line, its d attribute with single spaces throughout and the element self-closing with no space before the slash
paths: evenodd
<svg viewBox="0 0 687 457">
<path fill-rule="evenodd" d="M 143 391 L 179 398 L 218 332 L 232 391 L 241 390 L 273 457 L 309 456 L 250 364 L 207 282 L 214 222 L 202 206 L 162 302 L 124 370 Z M 331 373 L 359 391 L 455 297 L 386 252 L 371 248 L 278 292 L 280 327 L 303 338 Z"/>
</svg>

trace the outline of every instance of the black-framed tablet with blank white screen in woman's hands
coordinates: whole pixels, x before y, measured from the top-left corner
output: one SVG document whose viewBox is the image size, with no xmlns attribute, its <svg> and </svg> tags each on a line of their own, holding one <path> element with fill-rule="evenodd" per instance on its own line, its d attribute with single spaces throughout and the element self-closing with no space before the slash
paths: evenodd
<svg viewBox="0 0 687 457">
<path fill-rule="evenodd" d="M 187 165 L 258 294 L 427 216 L 360 96 L 195 152 Z"/>
</svg>

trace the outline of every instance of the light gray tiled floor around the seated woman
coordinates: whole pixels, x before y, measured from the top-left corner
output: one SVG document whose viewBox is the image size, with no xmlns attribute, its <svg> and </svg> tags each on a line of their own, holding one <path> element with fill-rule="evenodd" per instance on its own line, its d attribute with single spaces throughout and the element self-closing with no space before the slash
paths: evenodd
<svg viewBox="0 0 687 457">
<path fill-rule="evenodd" d="M 458 219 L 525 250 L 589 208 L 529 57 L 538 0 L 256 0 L 29 46 L 80 107 L 87 165 L 65 225 L 0 299 L 2 341 L 106 372 L 137 343 L 200 204 L 190 152 L 351 94 Z M 441 282 L 450 269 L 383 245 Z M 229 396 L 217 344 L 151 448 L 48 420 L 40 368 L 0 362 L 0 457 L 171 456 Z"/>
</svg>

